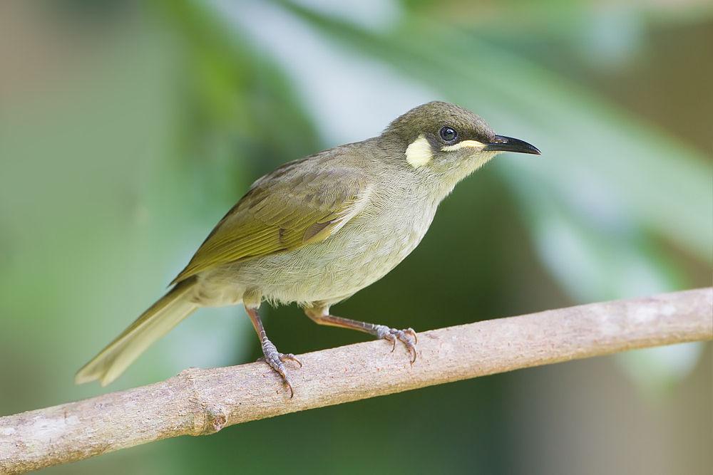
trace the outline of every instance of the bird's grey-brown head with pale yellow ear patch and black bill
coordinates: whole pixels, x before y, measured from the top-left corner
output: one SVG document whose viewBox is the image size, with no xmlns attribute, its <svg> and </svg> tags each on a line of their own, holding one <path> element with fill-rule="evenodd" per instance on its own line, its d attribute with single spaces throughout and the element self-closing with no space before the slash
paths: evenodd
<svg viewBox="0 0 713 475">
<path fill-rule="evenodd" d="M 540 155 L 523 140 L 496 135 L 486 122 L 457 105 L 434 101 L 409 110 L 379 137 L 402 165 L 455 185 L 499 152 Z"/>
</svg>

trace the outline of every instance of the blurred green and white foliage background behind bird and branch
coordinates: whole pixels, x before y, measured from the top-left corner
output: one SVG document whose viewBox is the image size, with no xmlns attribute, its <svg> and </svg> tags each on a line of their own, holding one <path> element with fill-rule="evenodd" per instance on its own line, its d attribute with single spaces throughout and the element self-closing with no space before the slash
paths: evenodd
<svg viewBox="0 0 713 475">
<path fill-rule="evenodd" d="M 340 315 L 426 330 L 709 286 L 712 51 L 707 0 L 0 2 L 0 414 L 106 391 L 74 372 L 254 179 L 434 99 L 543 156 L 460 184 Z M 365 338 L 262 311 L 286 352 Z M 258 355 L 240 308 L 201 310 L 107 390 Z M 47 472 L 704 474 L 712 360 L 569 362 Z"/>
</svg>

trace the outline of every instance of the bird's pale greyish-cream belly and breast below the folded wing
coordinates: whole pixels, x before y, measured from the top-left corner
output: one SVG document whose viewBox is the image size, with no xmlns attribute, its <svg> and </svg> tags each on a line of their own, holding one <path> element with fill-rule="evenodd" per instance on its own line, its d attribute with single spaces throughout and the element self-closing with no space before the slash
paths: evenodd
<svg viewBox="0 0 713 475">
<path fill-rule="evenodd" d="M 386 220 L 379 229 L 356 221 L 322 242 L 235 263 L 222 274 L 267 300 L 334 303 L 385 276 L 418 246 L 433 215 L 418 218 L 400 225 Z"/>
</svg>

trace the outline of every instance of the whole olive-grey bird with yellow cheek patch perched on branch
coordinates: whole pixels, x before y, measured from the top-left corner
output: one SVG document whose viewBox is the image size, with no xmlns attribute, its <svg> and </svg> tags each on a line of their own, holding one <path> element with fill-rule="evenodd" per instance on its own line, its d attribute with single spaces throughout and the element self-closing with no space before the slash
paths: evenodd
<svg viewBox="0 0 713 475">
<path fill-rule="evenodd" d="M 393 120 L 378 137 L 288 162 L 257 179 L 225 214 L 172 288 L 76 374 L 108 385 L 148 346 L 198 308 L 242 303 L 262 358 L 294 396 L 286 362 L 267 338 L 258 309 L 297 303 L 319 325 L 397 342 L 416 361 L 412 328 L 331 313 L 378 281 L 423 239 L 453 187 L 501 152 L 540 155 L 528 142 L 496 135 L 478 115 L 433 101 Z"/>
</svg>

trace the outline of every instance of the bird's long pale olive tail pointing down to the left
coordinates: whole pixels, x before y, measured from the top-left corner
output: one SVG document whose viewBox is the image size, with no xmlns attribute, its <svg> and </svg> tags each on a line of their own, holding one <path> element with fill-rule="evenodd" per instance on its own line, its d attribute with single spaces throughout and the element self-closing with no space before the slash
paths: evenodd
<svg viewBox="0 0 713 475">
<path fill-rule="evenodd" d="M 188 278 L 168 291 L 116 340 L 84 365 L 77 372 L 74 381 L 81 385 L 99 380 L 102 386 L 106 386 L 116 380 L 151 343 L 168 333 L 198 308 L 190 299 L 190 290 L 194 284 L 195 278 Z"/>
</svg>

